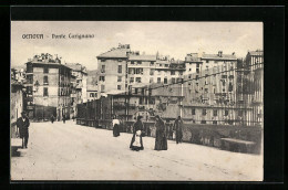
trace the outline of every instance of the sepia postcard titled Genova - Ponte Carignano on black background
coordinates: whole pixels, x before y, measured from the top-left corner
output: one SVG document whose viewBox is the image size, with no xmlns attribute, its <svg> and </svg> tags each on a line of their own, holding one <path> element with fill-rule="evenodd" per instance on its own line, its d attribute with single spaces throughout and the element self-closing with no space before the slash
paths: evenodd
<svg viewBox="0 0 288 190">
<path fill-rule="evenodd" d="M 263 181 L 264 24 L 11 21 L 11 181 Z"/>
</svg>

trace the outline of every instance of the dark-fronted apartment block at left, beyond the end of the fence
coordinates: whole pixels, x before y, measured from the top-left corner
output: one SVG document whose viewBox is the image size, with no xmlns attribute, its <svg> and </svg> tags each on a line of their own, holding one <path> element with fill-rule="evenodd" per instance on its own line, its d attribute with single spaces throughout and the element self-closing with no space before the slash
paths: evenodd
<svg viewBox="0 0 288 190">
<path fill-rule="evenodd" d="M 71 68 L 51 54 L 34 55 L 27 63 L 28 113 L 30 118 L 70 118 Z"/>
</svg>

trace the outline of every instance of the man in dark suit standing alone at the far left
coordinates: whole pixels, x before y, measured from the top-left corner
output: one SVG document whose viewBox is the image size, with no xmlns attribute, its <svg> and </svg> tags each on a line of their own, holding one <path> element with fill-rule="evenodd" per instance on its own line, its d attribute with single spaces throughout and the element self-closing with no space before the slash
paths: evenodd
<svg viewBox="0 0 288 190">
<path fill-rule="evenodd" d="M 22 112 L 21 115 L 22 117 L 17 119 L 17 127 L 20 131 L 20 138 L 22 138 L 22 148 L 27 148 L 30 122 L 25 115 L 25 112 Z"/>
</svg>

